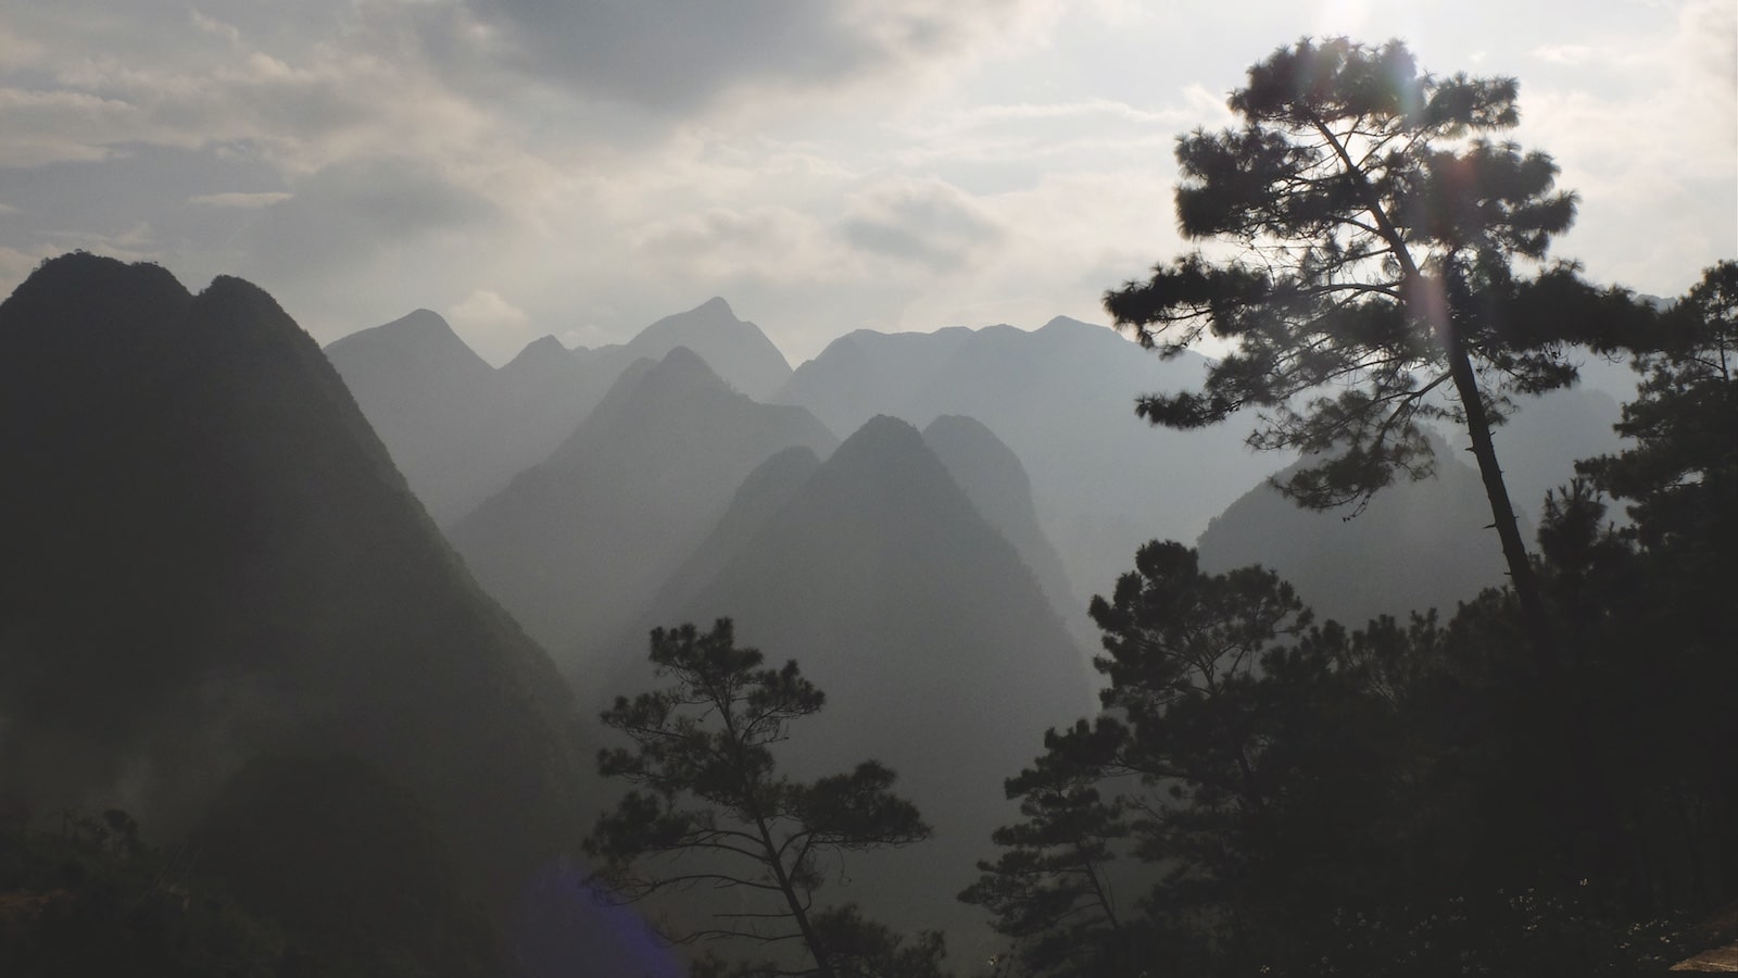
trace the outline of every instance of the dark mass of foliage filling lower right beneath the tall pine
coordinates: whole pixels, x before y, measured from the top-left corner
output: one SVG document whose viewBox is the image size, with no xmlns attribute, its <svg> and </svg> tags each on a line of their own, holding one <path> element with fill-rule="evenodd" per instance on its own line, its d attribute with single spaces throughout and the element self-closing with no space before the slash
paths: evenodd
<svg viewBox="0 0 1738 978">
<path fill-rule="evenodd" d="M 1008 781 L 1022 821 L 961 898 L 1038 976 L 1656 973 L 1738 894 L 1738 766 L 1712 747 L 1738 738 L 1738 663 L 1682 637 L 1703 597 L 1637 539 L 1585 482 L 1549 499 L 1552 710 L 1512 593 L 1316 626 L 1270 573 L 1149 543 L 1093 602 L 1105 712 Z M 1569 738 L 1625 787 L 1608 811 L 1559 776 Z"/>
</svg>

